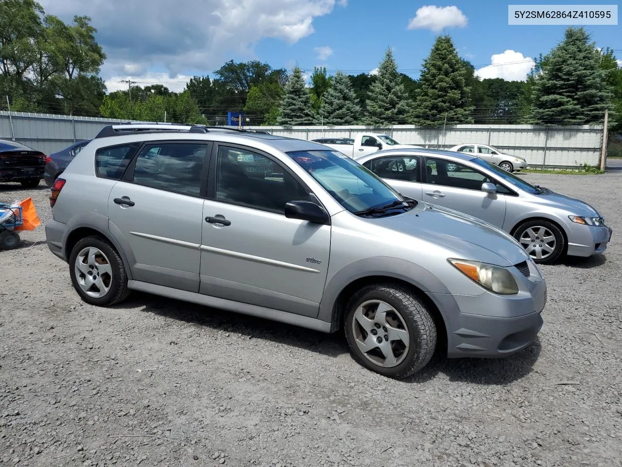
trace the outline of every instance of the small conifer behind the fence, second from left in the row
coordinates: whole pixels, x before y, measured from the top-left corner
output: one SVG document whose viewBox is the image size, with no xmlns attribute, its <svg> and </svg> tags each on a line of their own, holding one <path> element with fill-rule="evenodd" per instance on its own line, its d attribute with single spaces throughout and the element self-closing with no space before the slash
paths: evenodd
<svg viewBox="0 0 622 467">
<path fill-rule="evenodd" d="M 324 125 L 355 125 L 361 116 L 361 106 L 350 78 L 337 72 L 332 87 L 325 93 L 320 115 Z"/>
</svg>

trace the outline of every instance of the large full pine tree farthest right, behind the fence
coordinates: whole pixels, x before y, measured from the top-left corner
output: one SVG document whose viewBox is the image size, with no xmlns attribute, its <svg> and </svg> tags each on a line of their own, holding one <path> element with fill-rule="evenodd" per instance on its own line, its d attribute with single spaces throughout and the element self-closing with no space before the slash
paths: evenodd
<svg viewBox="0 0 622 467">
<path fill-rule="evenodd" d="M 603 121 L 611 93 L 600 52 L 583 27 L 569 27 L 545 57 L 534 82 L 531 123 L 586 125 Z"/>
</svg>

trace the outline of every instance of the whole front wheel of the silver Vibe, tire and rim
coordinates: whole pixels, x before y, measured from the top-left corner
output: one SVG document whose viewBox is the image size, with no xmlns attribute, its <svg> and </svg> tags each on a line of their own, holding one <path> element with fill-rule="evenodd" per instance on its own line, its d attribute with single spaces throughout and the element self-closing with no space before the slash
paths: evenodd
<svg viewBox="0 0 622 467">
<path fill-rule="evenodd" d="M 411 291 L 369 285 L 346 308 L 345 334 L 353 358 L 392 378 L 405 378 L 432 358 L 437 329 L 427 306 Z"/>
</svg>

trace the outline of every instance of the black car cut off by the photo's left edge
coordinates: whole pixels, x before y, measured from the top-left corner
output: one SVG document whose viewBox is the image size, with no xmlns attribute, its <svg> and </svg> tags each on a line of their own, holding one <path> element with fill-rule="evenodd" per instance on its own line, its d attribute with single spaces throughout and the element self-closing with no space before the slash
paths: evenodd
<svg viewBox="0 0 622 467">
<path fill-rule="evenodd" d="M 34 188 L 43 178 L 45 158 L 41 151 L 0 139 L 0 182 L 19 182 L 24 188 Z"/>
</svg>

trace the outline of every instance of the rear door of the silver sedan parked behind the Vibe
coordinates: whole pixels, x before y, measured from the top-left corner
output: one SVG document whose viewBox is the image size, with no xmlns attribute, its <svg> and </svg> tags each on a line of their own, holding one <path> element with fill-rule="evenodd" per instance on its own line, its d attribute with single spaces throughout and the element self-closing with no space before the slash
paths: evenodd
<svg viewBox="0 0 622 467">
<path fill-rule="evenodd" d="M 421 199 L 421 177 L 418 156 L 383 156 L 363 164 L 397 192 Z"/>
</svg>

